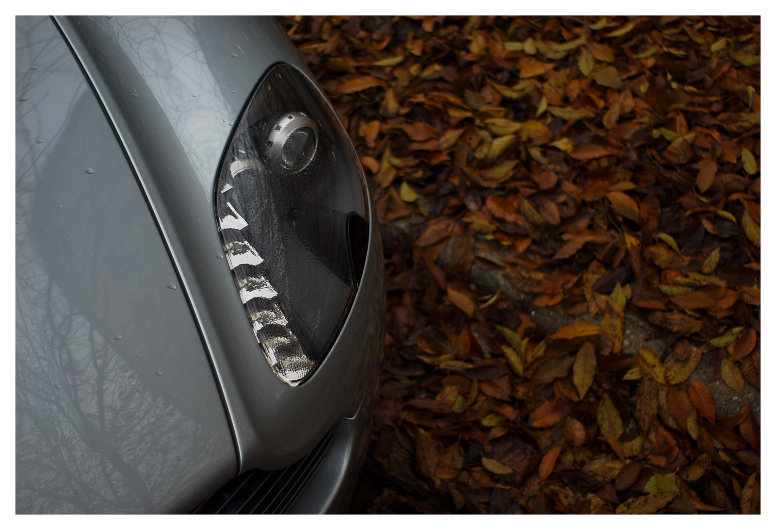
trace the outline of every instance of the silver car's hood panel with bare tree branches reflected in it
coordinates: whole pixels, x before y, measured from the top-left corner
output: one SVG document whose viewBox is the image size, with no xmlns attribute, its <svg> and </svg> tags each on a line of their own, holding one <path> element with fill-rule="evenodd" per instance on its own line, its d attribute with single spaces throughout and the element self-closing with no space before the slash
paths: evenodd
<svg viewBox="0 0 776 530">
<path fill-rule="evenodd" d="M 236 458 L 175 270 L 48 17 L 16 87 L 16 511 L 189 511 Z"/>
</svg>

